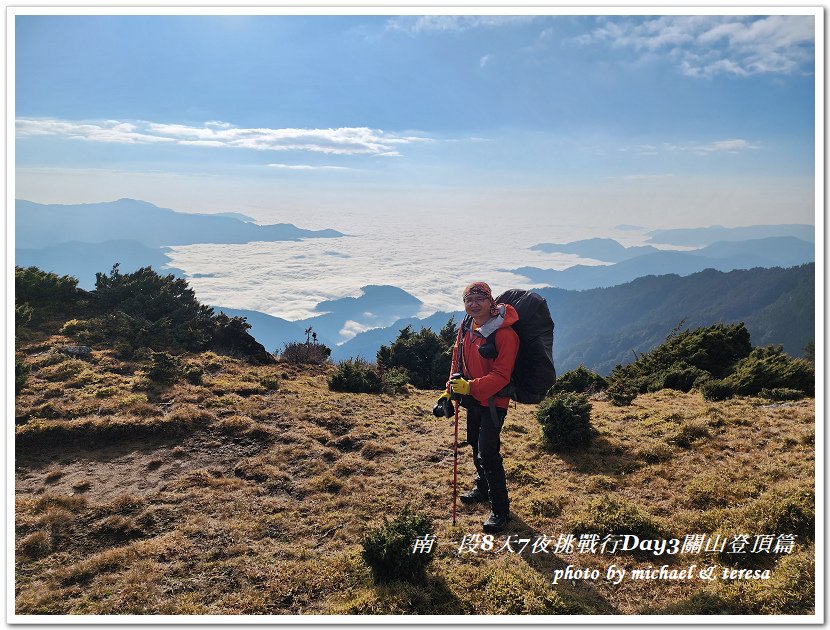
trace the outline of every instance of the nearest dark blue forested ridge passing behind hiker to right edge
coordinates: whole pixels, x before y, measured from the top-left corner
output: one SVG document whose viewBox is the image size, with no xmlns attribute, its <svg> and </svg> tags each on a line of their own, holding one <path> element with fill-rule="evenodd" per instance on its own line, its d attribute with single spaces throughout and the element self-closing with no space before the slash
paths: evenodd
<svg viewBox="0 0 830 630">
<path fill-rule="evenodd" d="M 728 273 L 708 269 L 690 276 L 648 276 L 606 289 L 536 289 L 548 300 L 555 322 L 554 360 L 559 373 L 580 363 L 607 374 L 661 343 L 681 321 L 689 328 L 717 322 L 746 323 L 754 345 L 782 344 L 800 356 L 814 337 L 815 264 L 789 269 L 751 269 Z M 356 335 L 334 348 L 332 358 L 373 361 L 405 326 L 434 331 L 462 311 L 415 317 Z M 252 331 L 257 337 L 257 333 Z"/>
</svg>

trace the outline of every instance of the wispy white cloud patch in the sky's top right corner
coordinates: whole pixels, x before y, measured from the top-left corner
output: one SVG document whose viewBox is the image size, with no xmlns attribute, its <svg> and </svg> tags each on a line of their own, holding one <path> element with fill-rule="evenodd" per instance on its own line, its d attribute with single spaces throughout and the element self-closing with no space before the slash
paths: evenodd
<svg viewBox="0 0 830 630">
<path fill-rule="evenodd" d="M 609 17 L 570 41 L 665 52 L 691 77 L 791 74 L 812 59 L 815 26 L 813 16 L 801 15 Z"/>
</svg>

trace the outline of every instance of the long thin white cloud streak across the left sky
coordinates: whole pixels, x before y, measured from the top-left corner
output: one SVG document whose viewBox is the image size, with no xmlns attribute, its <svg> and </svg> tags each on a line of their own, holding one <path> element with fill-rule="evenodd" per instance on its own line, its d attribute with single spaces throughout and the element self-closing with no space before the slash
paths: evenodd
<svg viewBox="0 0 830 630">
<path fill-rule="evenodd" d="M 172 143 L 185 146 L 235 147 L 257 151 L 309 151 L 330 155 L 398 156 L 397 147 L 429 138 L 399 136 L 368 127 L 337 129 L 239 128 L 209 121 L 202 127 L 154 122 L 69 121 L 18 118 L 17 137 L 60 136 L 119 144 Z"/>
</svg>

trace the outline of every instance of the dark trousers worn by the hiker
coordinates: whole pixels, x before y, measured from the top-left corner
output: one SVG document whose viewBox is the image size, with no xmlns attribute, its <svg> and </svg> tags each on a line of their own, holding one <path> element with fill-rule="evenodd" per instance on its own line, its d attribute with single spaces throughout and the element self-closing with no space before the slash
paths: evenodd
<svg viewBox="0 0 830 630">
<path fill-rule="evenodd" d="M 473 463 L 476 467 L 476 485 L 490 497 L 490 507 L 496 514 L 507 514 L 510 500 L 507 497 L 507 480 L 502 462 L 501 427 L 507 409 L 496 408 L 498 426 L 493 423 L 489 407 L 472 404 L 467 408 L 467 442 L 473 447 Z"/>
</svg>

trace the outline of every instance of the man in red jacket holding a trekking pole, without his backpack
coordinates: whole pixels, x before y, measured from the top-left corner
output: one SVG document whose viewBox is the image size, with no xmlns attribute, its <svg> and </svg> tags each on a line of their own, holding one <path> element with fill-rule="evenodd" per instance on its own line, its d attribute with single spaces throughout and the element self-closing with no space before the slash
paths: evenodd
<svg viewBox="0 0 830 630">
<path fill-rule="evenodd" d="M 450 397 L 452 392 L 461 397 L 460 404 L 467 409 L 467 442 L 473 447 L 477 474 L 475 486 L 461 495 L 461 501 L 489 501 L 490 516 L 483 529 L 498 533 L 507 525 L 510 514 L 499 439 L 510 396 L 497 394 L 510 383 L 516 362 L 519 337 L 512 324 L 518 321 L 518 314 L 509 304 L 496 304 L 484 282 L 468 285 L 463 297 L 464 310 L 472 321 L 468 326 L 462 322 L 459 327 L 450 380 L 441 398 Z"/>
</svg>

